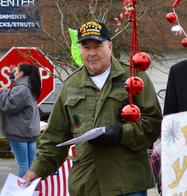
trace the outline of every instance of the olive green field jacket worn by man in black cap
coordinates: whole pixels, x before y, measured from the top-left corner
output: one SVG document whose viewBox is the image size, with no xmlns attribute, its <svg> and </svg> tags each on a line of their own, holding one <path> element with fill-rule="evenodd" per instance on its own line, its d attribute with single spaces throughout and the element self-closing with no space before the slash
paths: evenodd
<svg viewBox="0 0 187 196">
<path fill-rule="evenodd" d="M 129 103 L 124 83 L 129 68 L 116 59 L 112 61 L 109 78 L 100 91 L 89 78 L 85 67 L 65 82 L 43 133 L 37 159 L 31 169 L 46 176 L 57 169 L 67 156 L 67 147 L 55 145 L 77 137 L 90 129 L 121 124 L 123 138 L 118 145 L 97 146 L 82 142 L 75 145 L 76 157 L 69 176 L 69 191 L 73 196 L 94 195 L 98 184 L 101 196 L 114 196 L 146 190 L 154 186 L 147 149 L 160 135 L 161 110 L 155 90 L 146 73 L 143 92 L 135 102 L 142 115 L 135 123 L 122 122 L 120 108 Z"/>
</svg>

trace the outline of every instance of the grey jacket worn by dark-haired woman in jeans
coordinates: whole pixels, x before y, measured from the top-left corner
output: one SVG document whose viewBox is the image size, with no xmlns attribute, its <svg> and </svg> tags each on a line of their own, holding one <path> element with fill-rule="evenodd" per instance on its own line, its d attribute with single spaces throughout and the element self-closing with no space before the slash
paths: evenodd
<svg viewBox="0 0 187 196">
<path fill-rule="evenodd" d="M 16 81 L 9 91 L 0 90 L 0 110 L 5 113 L 8 139 L 32 141 L 39 135 L 40 116 L 28 76 Z"/>
</svg>

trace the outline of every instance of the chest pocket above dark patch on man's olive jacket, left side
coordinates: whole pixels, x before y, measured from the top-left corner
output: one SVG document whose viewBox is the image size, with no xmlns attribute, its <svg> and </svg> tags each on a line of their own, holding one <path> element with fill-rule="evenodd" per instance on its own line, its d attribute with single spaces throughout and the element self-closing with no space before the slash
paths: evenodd
<svg viewBox="0 0 187 196">
<path fill-rule="evenodd" d="M 69 96 L 65 101 L 74 133 L 80 132 L 79 128 L 85 121 L 85 95 Z"/>
</svg>

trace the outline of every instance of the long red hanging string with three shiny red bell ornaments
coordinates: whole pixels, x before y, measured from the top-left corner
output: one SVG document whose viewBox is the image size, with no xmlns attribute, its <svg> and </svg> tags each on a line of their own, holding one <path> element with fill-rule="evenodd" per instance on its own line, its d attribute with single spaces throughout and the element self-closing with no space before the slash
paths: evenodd
<svg viewBox="0 0 187 196">
<path fill-rule="evenodd" d="M 123 0 L 123 11 L 119 15 L 119 19 L 115 18 L 114 22 L 119 30 L 120 25 L 125 18 L 132 24 L 131 32 L 131 51 L 130 51 L 130 77 L 126 80 L 124 88 L 129 93 L 130 104 L 121 110 L 121 117 L 128 123 L 133 123 L 140 120 L 141 112 L 138 106 L 133 104 L 133 96 L 140 94 L 144 87 L 141 78 L 136 77 L 135 70 L 145 71 L 151 62 L 149 55 L 140 52 L 138 35 L 137 35 L 137 18 L 136 18 L 136 0 Z"/>
</svg>

